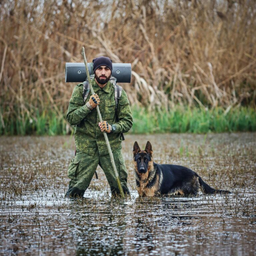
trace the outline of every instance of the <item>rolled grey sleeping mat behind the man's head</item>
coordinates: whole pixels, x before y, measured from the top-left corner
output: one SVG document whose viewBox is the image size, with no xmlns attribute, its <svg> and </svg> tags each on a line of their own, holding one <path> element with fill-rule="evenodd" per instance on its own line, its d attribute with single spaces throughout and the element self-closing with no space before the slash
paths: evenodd
<svg viewBox="0 0 256 256">
<path fill-rule="evenodd" d="M 93 64 L 88 63 L 90 75 L 93 75 Z M 130 83 L 132 76 L 131 63 L 113 63 L 112 76 L 117 79 L 117 83 Z M 66 82 L 84 82 L 87 78 L 84 62 L 72 63 L 66 62 L 65 80 Z"/>
</svg>

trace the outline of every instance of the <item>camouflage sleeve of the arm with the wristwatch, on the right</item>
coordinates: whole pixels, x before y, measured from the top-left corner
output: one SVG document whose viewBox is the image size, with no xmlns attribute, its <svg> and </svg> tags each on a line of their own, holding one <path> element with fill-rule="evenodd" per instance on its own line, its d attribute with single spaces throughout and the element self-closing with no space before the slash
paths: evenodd
<svg viewBox="0 0 256 256">
<path fill-rule="evenodd" d="M 122 90 L 121 98 L 117 107 L 118 122 L 115 123 L 115 133 L 128 132 L 132 127 L 132 111 L 127 94 Z"/>
</svg>

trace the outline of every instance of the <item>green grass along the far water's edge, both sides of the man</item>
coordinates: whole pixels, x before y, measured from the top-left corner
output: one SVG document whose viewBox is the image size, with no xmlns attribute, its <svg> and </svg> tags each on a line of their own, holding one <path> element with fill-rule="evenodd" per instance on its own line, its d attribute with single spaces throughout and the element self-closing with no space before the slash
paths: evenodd
<svg viewBox="0 0 256 256">
<path fill-rule="evenodd" d="M 177 106 L 174 109 L 149 111 L 133 106 L 133 134 L 143 133 L 208 133 L 256 131 L 255 108 L 233 108 L 225 114 L 223 108 L 207 110 Z M 66 121 L 52 110 L 36 112 L 35 117 L 17 116 L 0 122 L 0 135 L 65 135 Z M 182 148 L 180 154 L 186 149 Z"/>
</svg>

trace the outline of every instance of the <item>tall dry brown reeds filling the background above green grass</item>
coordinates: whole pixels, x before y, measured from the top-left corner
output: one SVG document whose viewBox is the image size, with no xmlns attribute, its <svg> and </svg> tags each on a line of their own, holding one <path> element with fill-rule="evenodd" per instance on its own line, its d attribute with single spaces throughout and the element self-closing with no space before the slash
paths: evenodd
<svg viewBox="0 0 256 256">
<path fill-rule="evenodd" d="M 255 103 L 254 0 L 0 2 L 0 121 L 65 113 L 65 63 L 132 63 L 132 103 L 225 108 Z"/>
</svg>

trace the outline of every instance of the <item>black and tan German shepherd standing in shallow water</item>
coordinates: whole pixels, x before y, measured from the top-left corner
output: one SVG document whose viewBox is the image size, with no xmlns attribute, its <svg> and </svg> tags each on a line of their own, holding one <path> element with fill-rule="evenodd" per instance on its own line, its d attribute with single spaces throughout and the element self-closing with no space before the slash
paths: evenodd
<svg viewBox="0 0 256 256">
<path fill-rule="evenodd" d="M 201 177 L 187 167 L 174 164 L 156 164 L 152 158 L 152 146 L 147 142 L 145 150 L 135 141 L 133 162 L 136 187 L 140 196 L 197 195 L 199 188 L 204 194 L 230 193 L 206 184 Z"/>
</svg>

